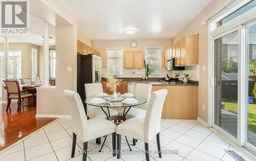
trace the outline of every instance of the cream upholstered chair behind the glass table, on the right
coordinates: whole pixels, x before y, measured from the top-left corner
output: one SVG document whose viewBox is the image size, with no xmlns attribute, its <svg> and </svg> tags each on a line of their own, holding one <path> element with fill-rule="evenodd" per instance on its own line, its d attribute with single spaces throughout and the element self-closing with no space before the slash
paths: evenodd
<svg viewBox="0 0 256 161">
<path fill-rule="evenodd" d="M 133 106 L 125 116 L 127 119 L 131 119 L 133 117 L 137 117 L 140 119 L 145 118 L 148 100 L 150 99 L 151 95 L 151 89 L 152 85 L 150 84 L 136 84 L 134 95 L 145 97 L 147 99 L 147 102 L 144 104 Z M 123 116 L 123 110 L 119 111 L 118 115 Z"/>
</svg>

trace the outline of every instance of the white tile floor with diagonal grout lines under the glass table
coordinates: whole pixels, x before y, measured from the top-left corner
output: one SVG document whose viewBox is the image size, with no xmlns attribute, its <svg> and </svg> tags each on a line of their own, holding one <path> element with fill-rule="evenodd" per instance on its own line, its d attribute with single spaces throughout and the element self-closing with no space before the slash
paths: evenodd
<svg viewBox="0 0 256 161">
<path fill-rule="evenodd" d="M 132 143 L 132 139 L 128 138 Z M 236 149 L 223 140 L 217 133 L 205 127 L 198 120 L 162 120 L 161 121 L 161 146 L 162 150 L 179 150 L 179 154 L 163 154 L 162 158 L 158 154 L 152 153 L 151 160 L 234 160 L 225 149 Z M 103 142 L 103 138 L 101 139 Z M 9 150 L 0 154 L 0 160 L 81 160 L 82 155 L 75 154 L 71 159 L 72 145 L 72 124 L 71 119 L 58 119 L 50 123 L 44 129 L 37 131 L 34 135 L 16 144 Z M 112 136 L 106 139 L 103 150 L 112 149 Z M 88 149 L 98 150 L 101 145 L 90 141 Z M 137 152 L 144 150 L 144 143 L 138 141 L 136 146 L 132 146 Z M 82 142 L 77 139 L 76 150 L 81 150 Z M 123 138 L 121 148 L 128 149 Z M 156 139 L 150 143 L 150 150 L 157 149 Z M 237 149 L 236 151 L 246 158 Z M 246 158 L 247 160 L 250 160 Z M 121 154 L 121 159 L 113 157 L 110 153 L 88 154 L 88 160 L 145 160 L 143 153 Z"/>
</svg>

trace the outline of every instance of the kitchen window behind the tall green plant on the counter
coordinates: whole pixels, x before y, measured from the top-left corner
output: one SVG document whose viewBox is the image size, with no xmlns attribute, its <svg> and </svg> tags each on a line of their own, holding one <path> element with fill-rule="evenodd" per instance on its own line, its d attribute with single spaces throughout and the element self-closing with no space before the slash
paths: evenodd
<svg viewBox="0 0 256 161">
<path fill-rule="evenodd" d="M 145 48 L 145 61 L 150 64 L 151 74 L 161 74 L 161 47 L 148 47 Z"/>
</svg>

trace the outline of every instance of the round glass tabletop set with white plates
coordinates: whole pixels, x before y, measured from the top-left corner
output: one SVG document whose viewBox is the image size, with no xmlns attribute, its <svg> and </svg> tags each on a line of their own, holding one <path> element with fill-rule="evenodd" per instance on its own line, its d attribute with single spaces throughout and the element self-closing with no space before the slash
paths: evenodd
<svg viewBox="0 0 256 161">
<path fill-rule="evenodd" d="M 121 107 L 129 107 L 129 106 L 140 105 L 140 104 L 146 103 L 146 101 L 147 101 L 147 99 L 145 97 L 134 96 L 133 98 L 138 100 L 138 102 L 134 103 L 134 104 L 126 104 L 126 103 L 123 103 L 122 101 L 115 101 L 115 102 L 111 101 L 111 102 L 108 102 L 108 103 L 104 102 L 104 103 L 101 103 L 101 104 L 95 104 L 95 103 L 91 102 L 91 100 L 93 98 L 96 98 L 96 96 L 88 98 L 84 102 L 86 102 L 86 104 L 89 104 L 89 105 L 105 107 L 105 108 L 121 108 Z"/>
</svg>

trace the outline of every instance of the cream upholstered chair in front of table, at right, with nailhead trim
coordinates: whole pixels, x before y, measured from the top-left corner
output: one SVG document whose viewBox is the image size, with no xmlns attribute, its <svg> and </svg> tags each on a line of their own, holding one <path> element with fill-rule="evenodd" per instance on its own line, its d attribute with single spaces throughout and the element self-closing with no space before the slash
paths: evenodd
<svg viewBox="0 0 256 161">
<path fill-rule="evenodd" d="M 153 92 L 150 100 L 148 101 L 145 119 L 134 117 L 122 122 L 116 127 L 118 159 L 120 158 L 121 136 L 144 141 L 146 161 L 150 160 L 148 143 L 150 143 L 156 136 L 158 155 L 159 157 L 162 157 L 160 146 L 160 123 L 166 95 L 166 89 Z"/>
</svg>

